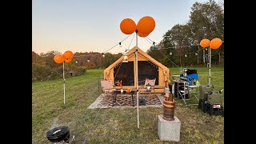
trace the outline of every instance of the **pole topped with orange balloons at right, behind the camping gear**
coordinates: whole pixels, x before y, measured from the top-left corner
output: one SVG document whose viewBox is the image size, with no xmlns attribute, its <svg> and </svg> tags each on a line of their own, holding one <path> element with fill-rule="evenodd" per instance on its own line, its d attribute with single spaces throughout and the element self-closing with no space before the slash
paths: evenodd
<svg viewBox="0 0 256 144">
<path fill-rule="evenodd" d="M 210 46 L 209 49 L 209 74 L 208 74 L 208 85 L 210 85 L 210 61 L 211 61 L 211 49 L 213 50 L 217 50 L 219 48 L 219 46 L 222 46 L 222 40 L 220 38 L 214 38 L 211 41 L 209 39 L 202 39 L 202 41 L 200 42 L 200 46 L 202 46 L 202 48 L 206 48 L 208 46 Z"/>
</svg>

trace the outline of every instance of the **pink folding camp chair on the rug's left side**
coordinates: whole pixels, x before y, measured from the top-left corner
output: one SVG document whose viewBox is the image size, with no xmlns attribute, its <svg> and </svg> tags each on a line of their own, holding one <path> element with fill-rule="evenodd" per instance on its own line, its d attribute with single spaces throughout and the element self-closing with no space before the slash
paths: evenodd
<svg viewBox="0 0 256 144">
<path fill-rule="evenodd" d="M 113 87 L 113 82 L 110 80 L 102 80 L 101 84 L 102 84 L 102 91 L 104 92 L 104 94 L 112 95 L 112 98 L 113 98 L 112 106 L 114 106 L 114 103 L 117 102 L 117 93 L 116 93 L 116 89 L 114 89 Z"/>
</svg>

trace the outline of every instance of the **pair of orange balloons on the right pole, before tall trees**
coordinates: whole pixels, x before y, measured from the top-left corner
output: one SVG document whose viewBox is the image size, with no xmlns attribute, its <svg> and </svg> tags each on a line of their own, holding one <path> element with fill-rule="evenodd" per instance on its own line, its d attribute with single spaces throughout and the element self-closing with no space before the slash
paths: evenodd
<svg viewBox="0 0 256 144">
<path fill-rule="evenodd" d="M 209 39 L 205 38 L 200 42 L 200 46 L 203 48 L 210 46 L 211 49 L 216 50 L 219 48 L 219 46 L 222 46 L 222 40 L 220 38 L 214 38 L 210 41 Z"/>
</svg>

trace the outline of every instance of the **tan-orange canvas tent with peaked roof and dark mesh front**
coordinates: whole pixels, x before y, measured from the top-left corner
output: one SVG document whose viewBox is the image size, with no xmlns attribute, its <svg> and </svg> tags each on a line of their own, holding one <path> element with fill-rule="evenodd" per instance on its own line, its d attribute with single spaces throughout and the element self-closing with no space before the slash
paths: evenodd
<svg viewBox="0 0 256 144">
<path fill-rule="evenodd" d="M 122 81 L 123 90 L 136 89 L 135 52 L 136 46 L 125 54 L 128 57 L 128 62 L 123 62 L 124 56 L 122 56 L 108 66 L 104 70 L 104 79 L 111 80 L 114 85 L 118 81 Z M 165 87 L 169 87 L 170 70 L 138 48 L 138 86 L 144 85 L 146 78 L 156 78 L 154 90 L 156 93 L 163 93 Z M 121 89 L 117 85 L 115 88 Z"/>
</svg>

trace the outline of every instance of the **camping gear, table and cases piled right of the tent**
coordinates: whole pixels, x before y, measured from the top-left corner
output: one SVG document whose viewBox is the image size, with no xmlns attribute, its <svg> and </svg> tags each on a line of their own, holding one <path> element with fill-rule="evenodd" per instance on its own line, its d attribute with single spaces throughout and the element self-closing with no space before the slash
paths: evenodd
<svg viewBox="0 0 256 144">
<path fill-rule="evenodd" d="M 174 82 L 174 96 L 182 98 L 183 101 L 189 98 L 189 87 L 194 85 L 194 79 L 198 80 L 197 70 L 184 68 L 183 73 L 179 75 L 178 81 Z M 222 90 L 214 90 L 213 85 L 198 86 L 198 109 L 211 115 L 224 116 Z M 186 102 L 185 102 L 186 104 Z"/>
</svg>

